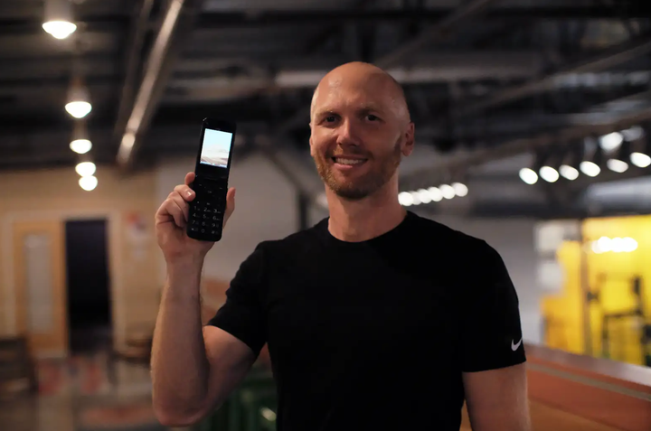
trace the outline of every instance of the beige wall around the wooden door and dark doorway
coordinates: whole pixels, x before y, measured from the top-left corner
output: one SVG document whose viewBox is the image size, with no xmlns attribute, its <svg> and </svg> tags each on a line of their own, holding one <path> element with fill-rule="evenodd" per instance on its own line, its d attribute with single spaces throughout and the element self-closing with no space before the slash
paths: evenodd
<svg viewBox="0 0 651 431">
<path fill-rule="evenodd" d="M 0 173 L 0 333 L 14 333 L 14 267 L 11 255 L 14 220 L 108 220 L 109 274 L 113 323 L 118 346 L 130 328 L 149 326 L 156 319 L 159 284 L 156 280 L 156 210 L 154 173 L 121 176 L 99 166 L 98 187 L 80 189 L 72 167 Z M 145 230 L 129 229 L 130 217 L 140 217 Z M 133 226 L 131 226 L 133 228 Z M 137 246 L 134 241 L 143 241 Z M 140 251 L 135 254 L 136 246 Z"/>
</svg>

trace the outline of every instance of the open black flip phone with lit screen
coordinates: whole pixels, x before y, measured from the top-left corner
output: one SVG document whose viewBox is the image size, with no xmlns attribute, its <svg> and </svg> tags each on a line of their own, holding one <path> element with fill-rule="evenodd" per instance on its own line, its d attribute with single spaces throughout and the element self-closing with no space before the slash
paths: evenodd
<svg viewBox="0 0 651 431">
<path fill-rule="evenodd" d="M 190 238 L 212 242 L 222 239 L 235 132 L 235 123 L 203 119 L 195 178 L 190 184 L 194 191 L 188 211 Z"/>
</svg>

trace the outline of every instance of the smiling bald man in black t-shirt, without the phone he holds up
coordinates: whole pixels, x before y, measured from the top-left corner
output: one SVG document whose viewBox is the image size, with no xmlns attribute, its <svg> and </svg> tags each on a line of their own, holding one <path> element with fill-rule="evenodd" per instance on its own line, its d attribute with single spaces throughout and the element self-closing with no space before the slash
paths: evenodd
<svg viewBox="0 0 651 431">
<path fill-rule="evenodd" d="M 398 165 L 414 145 L 400 85 L 370 64 L 340 66 L 315 91 L 310 127 L 329 218 L 260 243 L 204 328 L 199 280 L 212 244 L 183 230 L 193 173 L 156 213 L 167 263 L 157 417 L 205 417 L 268 343 L 281 431 L 458 430 L 464 399 L 475 431 L 529 430 L 518 300 L 502 259 L 398 201 Z"/>
</svg>

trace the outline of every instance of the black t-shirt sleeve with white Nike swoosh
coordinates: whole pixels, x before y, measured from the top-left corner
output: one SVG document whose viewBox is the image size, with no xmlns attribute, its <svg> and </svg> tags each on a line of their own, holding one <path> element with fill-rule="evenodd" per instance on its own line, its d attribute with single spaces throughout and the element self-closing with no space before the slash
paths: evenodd
<svg viewBox="0 0 651 431">
<path fill-rule="evenodd" d="M 472 269 L 461 299 L 461 366 L 466 372 L 526 361 L 518 296 L 504 260 L 485 241 L 478 246 L 472 260 L 467 259 Z"/>
</svg>

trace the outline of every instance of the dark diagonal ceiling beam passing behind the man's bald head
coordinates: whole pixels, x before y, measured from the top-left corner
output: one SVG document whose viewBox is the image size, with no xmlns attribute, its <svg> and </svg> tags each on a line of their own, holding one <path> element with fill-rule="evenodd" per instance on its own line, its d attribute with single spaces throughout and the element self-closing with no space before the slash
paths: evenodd
<svg viewBox="0 0 651 431">
<path fill-rule="evenodd" d="M 411 39 L 409 42 L 404 43 L 392 52 L 382 56 L 381 58 L 373 61 L 378 67 L 391 68 L 401 63 L 405 58 L 415 54 L 423 45 L 433 42 L 437 39 L 445 38 L 450 33 L 458 30 L 458 25 L 464 23 L 468 19 L 476 16 L 482 12 L 486 6 L 495 2 L 495 0 L 472 0 L 471 2 L 458 6 L 452 13 L 439 23 L 433 24 L 423 33 Z M 297 113 L 289 117 L 285 122 L 278 126 L 275 131 L 276 136 L 282 136 L 288 133 L 289 130 L 304 123 L 308 124 L 309 105 L 306 108 L 299 109 Z"/>
</svg>

